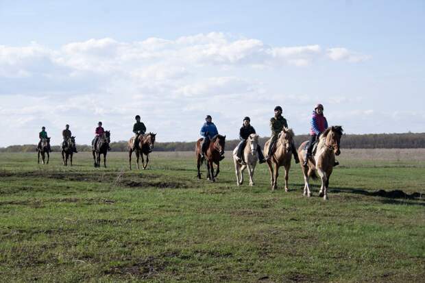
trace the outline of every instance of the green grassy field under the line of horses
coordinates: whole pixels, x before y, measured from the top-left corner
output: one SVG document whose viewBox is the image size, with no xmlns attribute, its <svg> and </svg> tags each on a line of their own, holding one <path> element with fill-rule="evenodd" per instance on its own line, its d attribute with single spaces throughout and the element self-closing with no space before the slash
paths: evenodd
<svg viewBox="0 0 425 283">
<path fill-rule="evenodd" d="M 125 153 L 93 168 L 88 153 L 0 154 L 4 282 L 424 282 L 425 150 L 343 150 L 329 201 L 271 193 L 267 166 L 236 186 L 230 153 L 217 182 L 193 153 Z M 205 169 L 203 177 L 205 177 Z M 280 177 L 282 184 L 282 175 Z M 384 191 L 385 190 L 385 191 Z M 393 190 L 400 190 L 391 192 Z"/>
</svg>

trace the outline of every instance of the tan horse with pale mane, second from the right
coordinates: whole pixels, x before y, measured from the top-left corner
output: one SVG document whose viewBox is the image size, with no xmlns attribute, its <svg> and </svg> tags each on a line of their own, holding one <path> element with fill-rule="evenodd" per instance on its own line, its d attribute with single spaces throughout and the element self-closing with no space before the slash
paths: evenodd
<svg viewBox="0 0 425 283">
<path fill-rule="evenodd" d="M 271 190 L 278 188 L 278 176 L 279 176 L 279 167 L 284 167 L 284 190 L 287 192 L 288 189 L 288 178 L 289 178 L 289 169 L 291 168 L 291 144 L 293 143 L 293 131 L 292 129 L 283 128 L 280 132 L 278 140 L 276 140 L 276 149 L 273 156 L 267 160 L 267 165 L 269 165 L 270 171 L 270 184 Z M 267 140 L 264 146 L 264 152 L 269 151 L 270 140 Z M 273 169 L 274 167 L 274 169 Z"/>
</svg>

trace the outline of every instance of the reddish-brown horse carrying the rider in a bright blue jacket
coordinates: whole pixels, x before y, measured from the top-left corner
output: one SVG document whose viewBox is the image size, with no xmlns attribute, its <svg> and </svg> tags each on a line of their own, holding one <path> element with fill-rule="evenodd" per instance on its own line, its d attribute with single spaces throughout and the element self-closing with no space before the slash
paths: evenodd
<svg viewBox="0 0 425 283">
<path fill-rule="evenodd" d="M 201 156 L 201 144 L 202 140 L 204 138 L 199 138 L 196 143 L 195 147 L 195 153 L 196 153 L 196 159 L 197 159 L 197 177 L 201 179 L 201 172 L 199 171 L 199 168 L 201 167 L 202 160 Z M 206 158 L 206 170 L 207 170 L 207 179 L 211 182 L 215 182 L 215 177 L 219 175 L 220 172 L 220 160 L 223 159 L 221 156 L 224 154 L 224 145 L 226 143 L 226 136 L 221 136 L 221 134 L 215 135 L 210 140 L 210 145 L 208 146 L 208 149 L 206 149 L 205 158 Z M 214 175 L 214 167 L 213 163 L 217 164 L 217 172 Z"/>
</svg>

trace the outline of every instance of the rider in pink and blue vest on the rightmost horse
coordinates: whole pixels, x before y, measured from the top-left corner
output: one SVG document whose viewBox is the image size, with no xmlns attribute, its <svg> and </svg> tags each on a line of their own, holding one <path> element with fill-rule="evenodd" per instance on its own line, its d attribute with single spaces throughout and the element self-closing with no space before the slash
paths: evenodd
<svg viewBox="0 0 425 283">
<path fill-rule="evenodd" d="M 328 128 L 328 121 L 323 114 L 324 107 L 320 103 L 315 106 L 313 110 L 313 115 L 311 116 L 311 129 L 310 129 L 310 140 L 308 143 L 308 148 L 304 156 L 304 162 L 302 164 L 306 166 L 308 164 L 308 159 L 311 158 L 311 151 L 313 151 L 313 146 L 316 140 L 319 140 L 319 136 Z M 337 166 L 339 162 L 335 161 L 334 166 Z"/>
</svg>

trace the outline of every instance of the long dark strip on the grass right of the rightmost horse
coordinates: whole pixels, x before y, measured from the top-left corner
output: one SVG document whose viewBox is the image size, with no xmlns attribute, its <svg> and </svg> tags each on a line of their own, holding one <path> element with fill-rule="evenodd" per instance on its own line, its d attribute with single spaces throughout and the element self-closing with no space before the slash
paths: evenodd
<svg viewBox="0 0 425 283">
<path fill-rule="evenodd" d="M 387 197 L 389 199 L 414 199 L 417 201 L 425 201 L 425 199 L 422 198 L 422 194 L 421 193 L 411 193 L 410 195 L 407 193 L 404 193 L 402 190 L 374 190 L 374 191 L 369 191 L 369 190 L 362 190 L 360 188 L 332 188 L 331 189 L 332 193 L 353 193 L 353 194 L 357 194 L 357 195 L 366 195 L 366 196 L 370 196 L 370 197 Z M 386 201 L 386 203 L 388 204 L 399 204 L 400 201 L 396 201 L 396 200 L 388 200 Z M 421 205 L 421 206 L 425 206 L 425 202 L 423 204 L 417 204 L 415 203 L 415 205 Z"/>
</svg>

